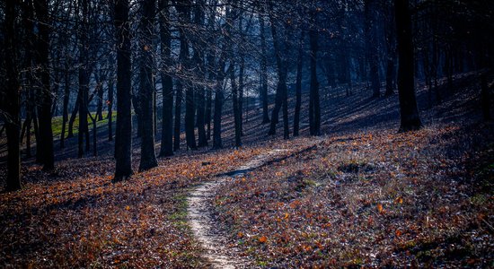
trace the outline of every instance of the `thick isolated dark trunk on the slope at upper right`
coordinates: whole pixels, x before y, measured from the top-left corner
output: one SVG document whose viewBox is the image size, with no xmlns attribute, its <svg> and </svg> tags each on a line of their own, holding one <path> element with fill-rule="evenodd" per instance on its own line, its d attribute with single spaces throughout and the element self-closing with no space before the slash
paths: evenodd
<svg viewBox="0 0 494 269">
<path fill-rule="evenodd" d="M 394 2 L 396 38 L 398 41 L 398 95 L 400 99 L 401 132 L 418 130 L 421 126 L 415 97 L 413 41 L 409 0 Z"/>
</svg>

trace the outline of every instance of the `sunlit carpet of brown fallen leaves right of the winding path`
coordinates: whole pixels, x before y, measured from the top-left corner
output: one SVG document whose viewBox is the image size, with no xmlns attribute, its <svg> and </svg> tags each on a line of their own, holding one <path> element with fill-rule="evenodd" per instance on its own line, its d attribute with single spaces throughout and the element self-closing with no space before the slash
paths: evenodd
<svg viewBox="0 0 494 269">
<path fill-rule="evenodd" d="M 457 159 L 464 154 L 442 155 L 451 141 L 435 143 L 434 149 L 428 143 L 459 131 L 441 127 L 327 138 L 313 151 L 222 187 L 216 194 L 216 201 L 224 202 L 216 203 L 220 219 L 227 230 L 259 235 L 244 237 L 239 247 L 270 266 L 427 266 L 433 258 L 437 265 L 486 265 L 493 239 L 479 220 L 494 219 L 475 213 L 479 208 L 471 204 L 494 208 L 494 202 L 465 198 L 472 185 L 457 181 L 468 175 Z M 448 240 L 463 245 L 448 247 Z"/>
</svg>

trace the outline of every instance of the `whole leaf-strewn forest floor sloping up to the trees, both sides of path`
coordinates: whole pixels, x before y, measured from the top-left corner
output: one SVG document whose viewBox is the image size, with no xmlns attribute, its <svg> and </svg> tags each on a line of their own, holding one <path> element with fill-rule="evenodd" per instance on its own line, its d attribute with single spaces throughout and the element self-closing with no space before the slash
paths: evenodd
<svg viewBox="0 0 494 269">
<path fill-rule="evenodd" d="M 267 137 L 251 109 L 243 148 L 181 151 L 117 184 L 104 129 L 100 157 L 68 158 L 72 139 L 55 171 L 24 161 L 24 188 L 0 194 L 0 265 L 207 267 L 217 244 L 200 233 L 212 227 L 220 254 L 249 267 L 493 266 L 494 124 L 481 121 L 476 78 L 457 76 L 434 106 L 419 88 L 417 132 L 396 132 L 396 96 L 323 90 L 318 138 L 305 114 L 301 137 Z M 137 146 L 134 157 L 137 171 Z"/>
</svg>

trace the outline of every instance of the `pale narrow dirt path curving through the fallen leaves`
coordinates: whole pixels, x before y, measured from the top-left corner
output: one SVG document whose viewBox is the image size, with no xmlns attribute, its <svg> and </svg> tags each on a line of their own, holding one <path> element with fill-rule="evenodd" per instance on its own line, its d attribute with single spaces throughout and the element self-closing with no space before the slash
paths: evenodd
<svg viewBox="0 0 494 269">
<path fill-rule="evenodd" d="M 216 189 L 225 184 L 230 178 L 242 177 L 245 173 L 260 168 L 273 158 L 280 157 L 287 150 L 271 150 L 263 153 L 234 169 L 219 175 L 215 181 L 210 181 L 194 188 L 187 202 L 187 215 L 194 237 L 206 251 L 204 257 L 214 268 L 243 268 L 249 261 L 239 254 L 237 247 L 228 246 L 228 239 L 218 225 L 212 209 L 211 200 L 215 198 Z"/>
</svg>

